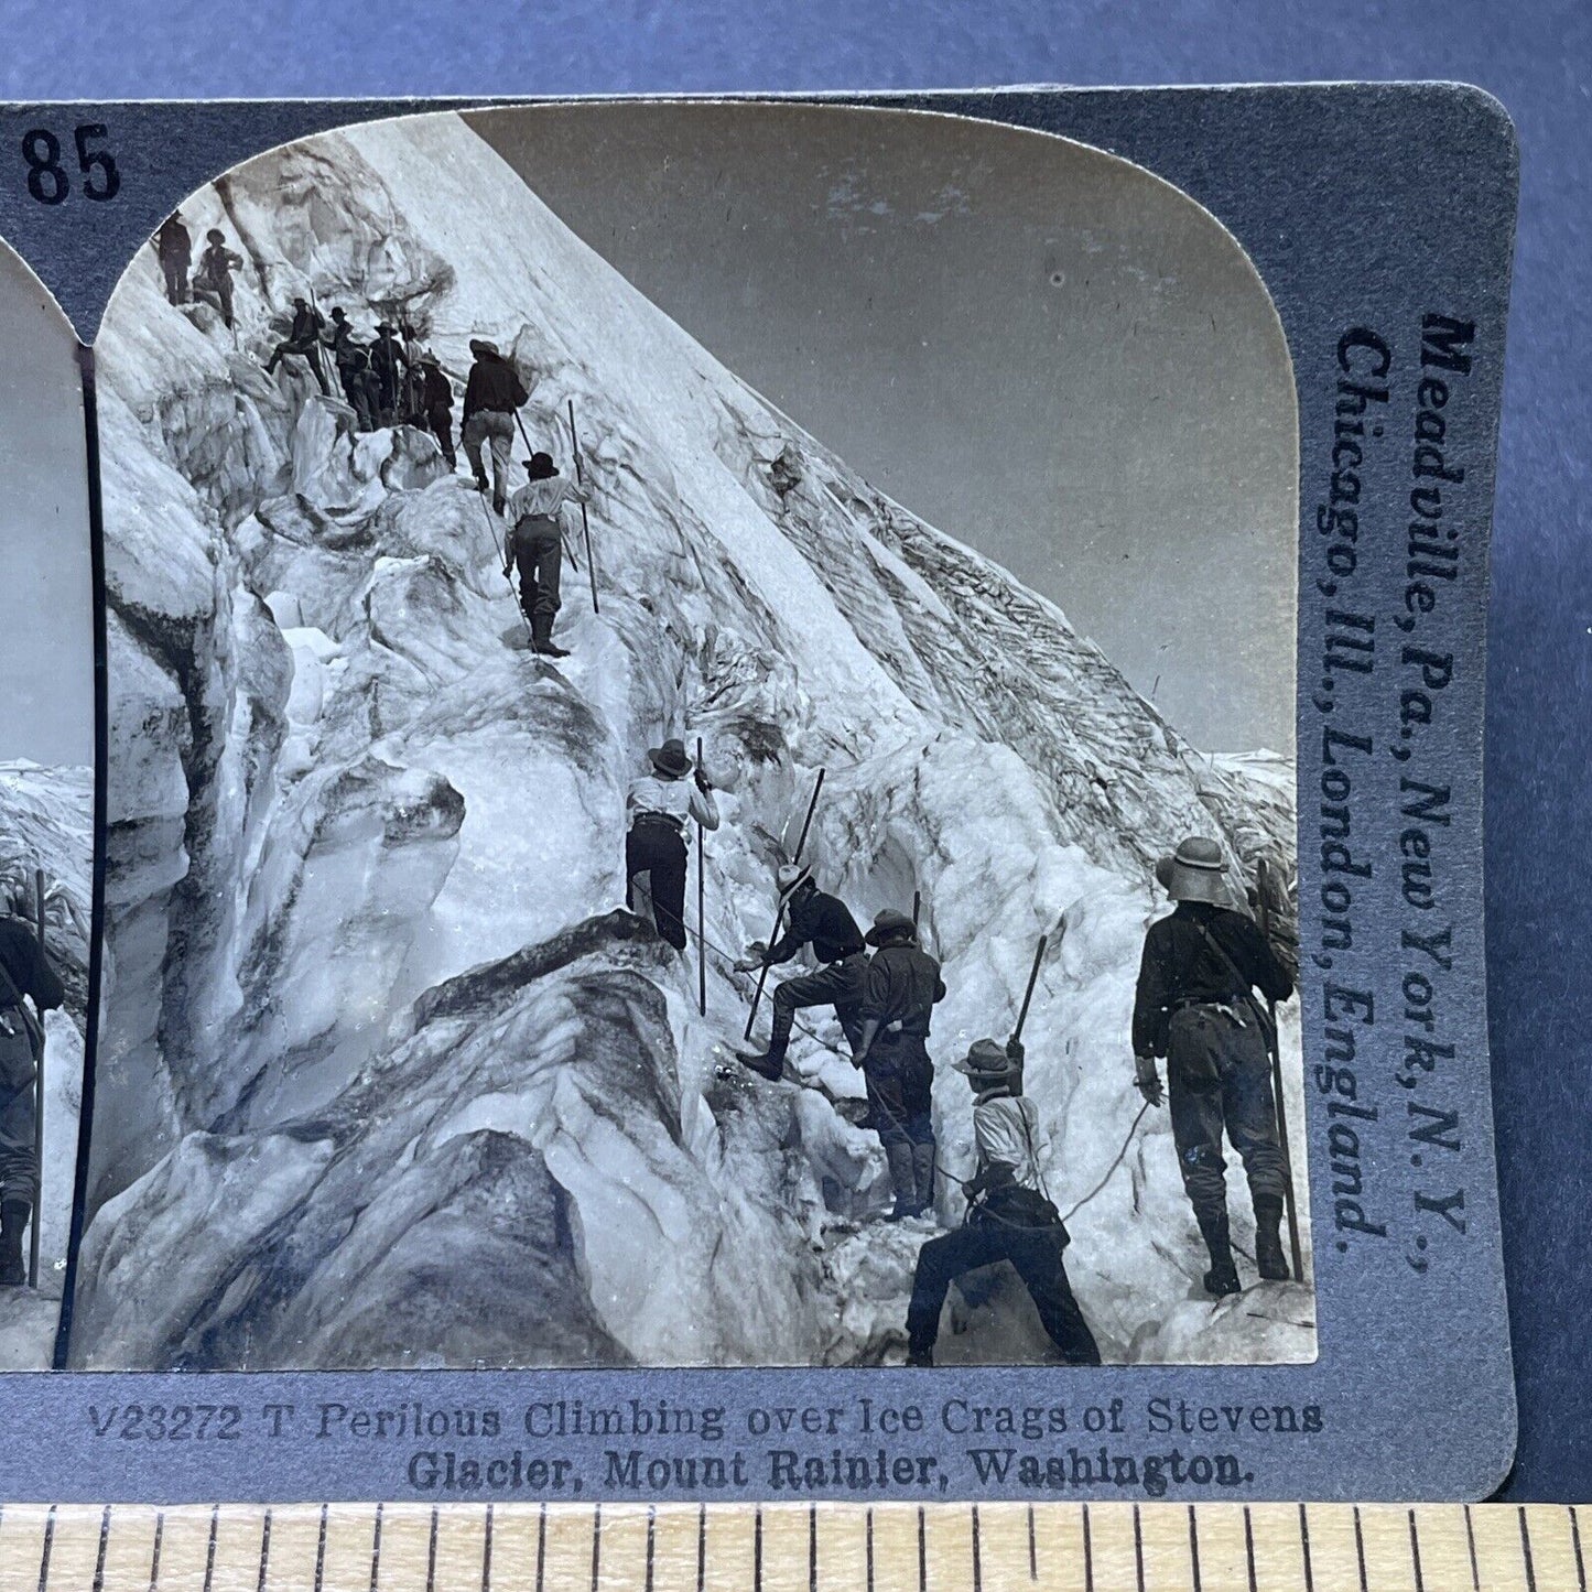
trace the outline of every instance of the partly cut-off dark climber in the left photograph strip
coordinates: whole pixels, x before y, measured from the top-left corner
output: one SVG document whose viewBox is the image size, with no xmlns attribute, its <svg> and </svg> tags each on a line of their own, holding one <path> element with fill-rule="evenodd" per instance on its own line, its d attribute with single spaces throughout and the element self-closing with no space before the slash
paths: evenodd
<svg viewBox="0 0 1592 1592">
<path fill-rule="evenodd" d="M 13 1288 L 27 1282 L 22 1234 L 38 1204 L 33 1091 L 45 1043 L 38 1019 L 67 995 L 19 904 L 13 899 L 10 915 L 0 917 L 0 1285 Z M 38 1016 L 24 997 L 32 997 Z"/>
</svg>

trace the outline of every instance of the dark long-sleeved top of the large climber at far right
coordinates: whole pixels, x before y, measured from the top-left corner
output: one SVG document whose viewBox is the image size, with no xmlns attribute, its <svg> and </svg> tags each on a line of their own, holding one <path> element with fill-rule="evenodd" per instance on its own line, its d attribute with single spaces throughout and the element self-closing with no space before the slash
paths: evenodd
<svg viewBox="0 0 1592 1592">
<path fill-rule="evenodd" d="M 1180 901 L 1170 917 L 1157 919 L 1145 935 L 1134 1001 L 1134 1054 L 1167 1054 L 1167 1024 L 1180 1006 L 1248 1000 L 1251 987 L 1267 1000 L 1293 993 L 1293 979 L 1272 955 L 1266 936 L 1242 912 L 1207 901 Z"/>
</svg>

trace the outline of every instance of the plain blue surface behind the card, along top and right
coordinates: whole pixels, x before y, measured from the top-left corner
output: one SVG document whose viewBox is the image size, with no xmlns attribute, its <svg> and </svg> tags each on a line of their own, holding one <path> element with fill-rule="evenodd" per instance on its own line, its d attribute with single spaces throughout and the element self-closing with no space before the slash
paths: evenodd
<svg viewBox="0 0 1592 1592">
<path fill-rule="evenodd" d="M 0 3 L 0 97 L 602 94 L 1457 78 L 1522 146 L 1493 533 L 1487 946 L 1520 1446 L 1504 1496 L 1592 1500 L 1592 6 L 734 0 Z M 1420 150 L 1411 150 L 1418 161 Z"/>
</svg>

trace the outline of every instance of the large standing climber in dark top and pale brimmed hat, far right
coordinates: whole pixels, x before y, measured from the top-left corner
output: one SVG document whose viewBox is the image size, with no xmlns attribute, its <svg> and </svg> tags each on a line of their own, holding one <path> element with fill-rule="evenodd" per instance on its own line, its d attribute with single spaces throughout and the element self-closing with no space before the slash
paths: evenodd
<svg viewBox="0 0 1592 1592">
<path fill-rule="evenodd" d="M 1205 1291 L 1242 1286 L 1227 1235 L 1223 1129 L 1243 1159 L 1254 1202 L 1254 1264 L 1266 1282 L 1286 1282 L 1278 1226 L 1286 1170 L 1272 1098 L 1269 1017 L 1254 987 L 1286 1000 L 1293 979 L 1266 936 L 1223 904 L 1226 863 L 1215 841 L 1191 836 L 1157 864 L 1176 903 L 1145 935 L 1134 1003 L 1134 1084 L 1161 1105 L 1156 1057 L 1167 1059 L 1172 1141 L 1183 1188 L 1210 1251 Z"/>
</svg>

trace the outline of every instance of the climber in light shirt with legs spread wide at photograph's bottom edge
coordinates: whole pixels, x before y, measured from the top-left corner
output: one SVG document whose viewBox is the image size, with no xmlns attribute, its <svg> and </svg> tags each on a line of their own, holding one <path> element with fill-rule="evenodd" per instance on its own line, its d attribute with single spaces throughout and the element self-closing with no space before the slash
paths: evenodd
<svg viewBox="0 0 1592 1592">
<path fill-rule="evenodd" d="M 1044 1192 L 1038 1161 L 1040 1116 L 1022 1094 L 1022 1041 L 1005 1048 L 977 1040 L 955 1062 L 973 1086 L 973 1141 L 977 1170 L 963 1184 L 968 1213 L 954 1232 L 917 1251 L 912 1299 L 906 1307 L 909 1366 L 935 1363 L 946 1291 L 966 1272 L 1009 1261 L 1024 1280 L 1040 1321 L 1070 1366 L 1100 1364 L 1100 1348 L 1067 1282 L 1062 1251 L 1068 1235 Z"/>
</svg>

